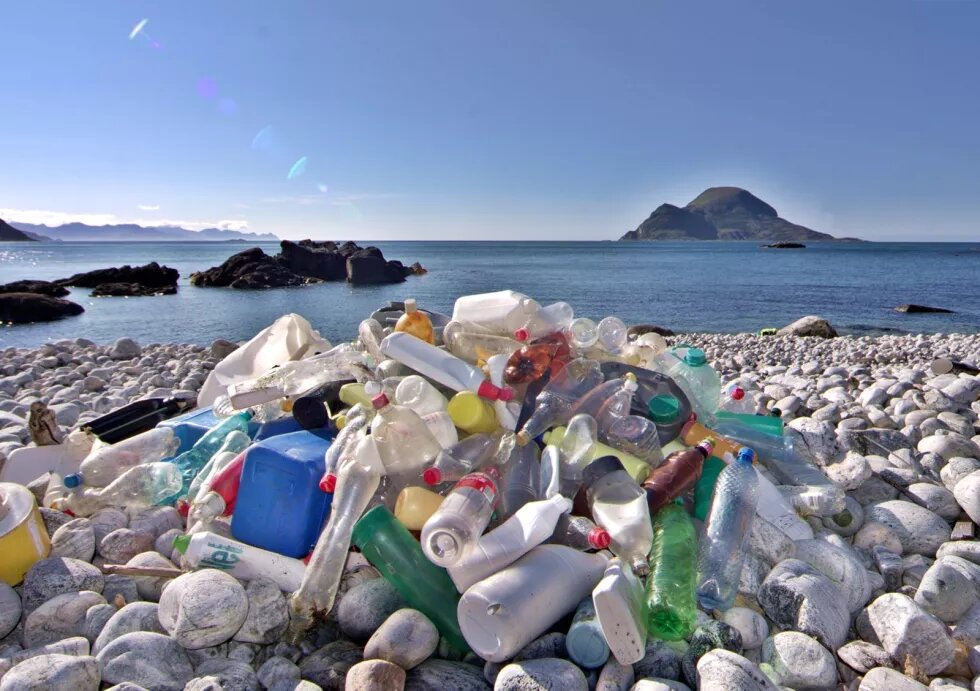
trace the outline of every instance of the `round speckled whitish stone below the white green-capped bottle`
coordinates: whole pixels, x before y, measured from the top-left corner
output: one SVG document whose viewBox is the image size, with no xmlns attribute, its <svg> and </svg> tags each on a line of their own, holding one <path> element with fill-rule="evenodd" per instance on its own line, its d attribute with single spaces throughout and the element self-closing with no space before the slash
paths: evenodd
<svg viewBox="0 0 980 691">
<path fill-rule="evenodd" d="M 160 596 L 158 610 L 163 628 L 181 646 L 191 649 L 229 640 L 247 614 L 248 597 L 241 583 L 215 569 L 174 579 Z"/>
</svg>

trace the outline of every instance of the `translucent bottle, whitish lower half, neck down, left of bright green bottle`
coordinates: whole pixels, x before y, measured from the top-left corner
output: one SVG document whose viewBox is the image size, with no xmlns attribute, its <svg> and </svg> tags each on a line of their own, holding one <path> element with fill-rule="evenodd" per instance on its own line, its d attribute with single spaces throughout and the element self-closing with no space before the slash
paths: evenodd
<svg viewBox="0 0 980 691">
<path fill-rule="evenodd" d="M 583 475 L 582 486 L 592 517 L 612 537 L 609 549 L 634 573 L 645 576 L 653 543 L 646 493 L 615 456 L 593 461 Z"/>
</svg>

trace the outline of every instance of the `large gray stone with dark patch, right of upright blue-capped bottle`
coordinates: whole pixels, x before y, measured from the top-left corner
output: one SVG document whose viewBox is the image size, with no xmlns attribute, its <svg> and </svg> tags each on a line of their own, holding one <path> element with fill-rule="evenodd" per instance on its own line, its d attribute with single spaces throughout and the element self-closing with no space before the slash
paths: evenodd
<svg viewBox="0 0 980 691">
<path fill-rule="evenodd" d="M 813 636 L 836 650 L 847 637 L 847 600 L 833 581 L 799 559 L 777 564 L 759 589 L 759 604 L 783 629 Z"/>
</svg>

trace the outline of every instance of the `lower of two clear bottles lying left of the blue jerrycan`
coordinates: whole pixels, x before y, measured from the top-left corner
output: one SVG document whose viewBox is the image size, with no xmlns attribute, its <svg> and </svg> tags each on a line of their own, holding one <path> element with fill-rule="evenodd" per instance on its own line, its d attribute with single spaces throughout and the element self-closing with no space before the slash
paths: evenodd
<svg viewBox="0 0 980 691">
<path fill-rule="evenodd" d="M 107 486 L 84 488 L 52 502 L 52 508 L 91 516 L 107 506 L 140 509 L 162 503 L 182 487 L 180 470 L 173 463 L 144 463 L 133 466 Z"/>
</svg>

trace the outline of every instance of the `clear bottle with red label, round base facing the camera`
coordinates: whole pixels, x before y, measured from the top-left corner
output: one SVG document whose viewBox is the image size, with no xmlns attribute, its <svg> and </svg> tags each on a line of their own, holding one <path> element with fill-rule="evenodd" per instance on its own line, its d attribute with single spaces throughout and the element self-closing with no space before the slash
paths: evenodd
<svg viewBox="0 0 980 691">
<path fill-rule="evenodd" d="M 448 567 L 458 563 L 480 539 L 497 507 L 498 479 L 495 469 L 466 475 L 425 522 L 422 551 L 433 564 Z"/>
</svg>

